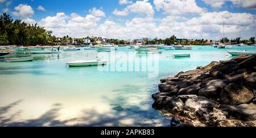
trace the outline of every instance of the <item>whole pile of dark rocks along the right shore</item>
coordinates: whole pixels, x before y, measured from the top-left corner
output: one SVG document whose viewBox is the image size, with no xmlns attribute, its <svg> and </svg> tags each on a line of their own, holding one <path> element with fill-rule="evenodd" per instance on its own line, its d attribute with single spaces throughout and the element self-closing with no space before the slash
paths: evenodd
<svg viewBox="0 0 256 138">
<path fill-rule="evenodd" d="M 162 79 L 152 95 L 171 126 L 256 126 L 256 55 L 212 62 Z"/>
</svg>

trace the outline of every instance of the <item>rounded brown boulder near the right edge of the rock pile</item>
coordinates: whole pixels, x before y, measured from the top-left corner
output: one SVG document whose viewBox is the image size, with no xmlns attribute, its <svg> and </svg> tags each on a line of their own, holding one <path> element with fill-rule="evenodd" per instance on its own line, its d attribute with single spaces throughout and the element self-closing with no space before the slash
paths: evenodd
<svg viewBox="0 0 256 138">
<path fill-rule="evenodd" d="M 229 105 L 240 105 L 253 100 L 254 94 L 241 84 L 230 83 L 221 92 L 220 101 Z"/>
</svg>

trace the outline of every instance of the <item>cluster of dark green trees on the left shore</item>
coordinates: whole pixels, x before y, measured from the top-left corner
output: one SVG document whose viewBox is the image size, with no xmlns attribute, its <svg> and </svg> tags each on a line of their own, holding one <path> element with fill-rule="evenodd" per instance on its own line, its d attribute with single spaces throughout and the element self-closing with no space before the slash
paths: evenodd
<svg viewBox="0 0 256 138">
<path fill-rule="evenodd" d="M 51 31 L 37 24 L 27 24 L 3 13 L 0 16 L 0 45 L 44 45 L 52 41 Z"/>
</svg>

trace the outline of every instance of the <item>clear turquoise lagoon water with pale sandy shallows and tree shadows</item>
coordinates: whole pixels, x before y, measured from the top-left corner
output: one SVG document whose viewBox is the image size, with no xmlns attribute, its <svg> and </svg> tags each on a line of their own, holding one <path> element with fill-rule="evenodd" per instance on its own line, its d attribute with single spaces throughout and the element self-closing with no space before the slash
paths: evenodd
<svg viewBox="0 0 256 138">
<path fill-rule="evenodd" d="M 231 59 L 228 50 L 256 51 L 256 47 L 193 46 L 193 50 L 162 54 L 137 54 L 120 47 L 110 59 L 95 50 L 33 55 L 33 62 L 6 63 L 2 59 L 0 126 L 169 126 L 170 120 L 151 107 L 151 94 L 158 92 L 159 80 L 212 61 Z M 191 57 L 174 58 L 174 53 L 191 53 Z M 16 56 L 20 55 L 9 55 Z M 97 66 L 65 66 L 66 62 L 96 57 L 108 59 L 104 67 L 119 63 L 121 57 L 155 62 L 158 75 L 148 77 L 152 71 L 142 69 L 99 71 Z M 138 64 L 143 68 L 143 62 Z"/>
</svg>

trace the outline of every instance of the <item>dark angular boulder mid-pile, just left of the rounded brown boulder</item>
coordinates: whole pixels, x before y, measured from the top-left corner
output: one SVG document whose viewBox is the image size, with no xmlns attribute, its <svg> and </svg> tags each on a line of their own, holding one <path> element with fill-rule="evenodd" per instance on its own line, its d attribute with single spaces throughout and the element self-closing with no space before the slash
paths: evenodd
<svg viewBox="0 0 256 138">
<path fill-rule="evenodd" d="M 220 96 L 221 90 L 228 85 L 226 80 L 211 80 L 206 85 L 202 86 L 199 90 L 199 96 L 204 96 L 208 98 L 218 98 Z"/>
</svg>

